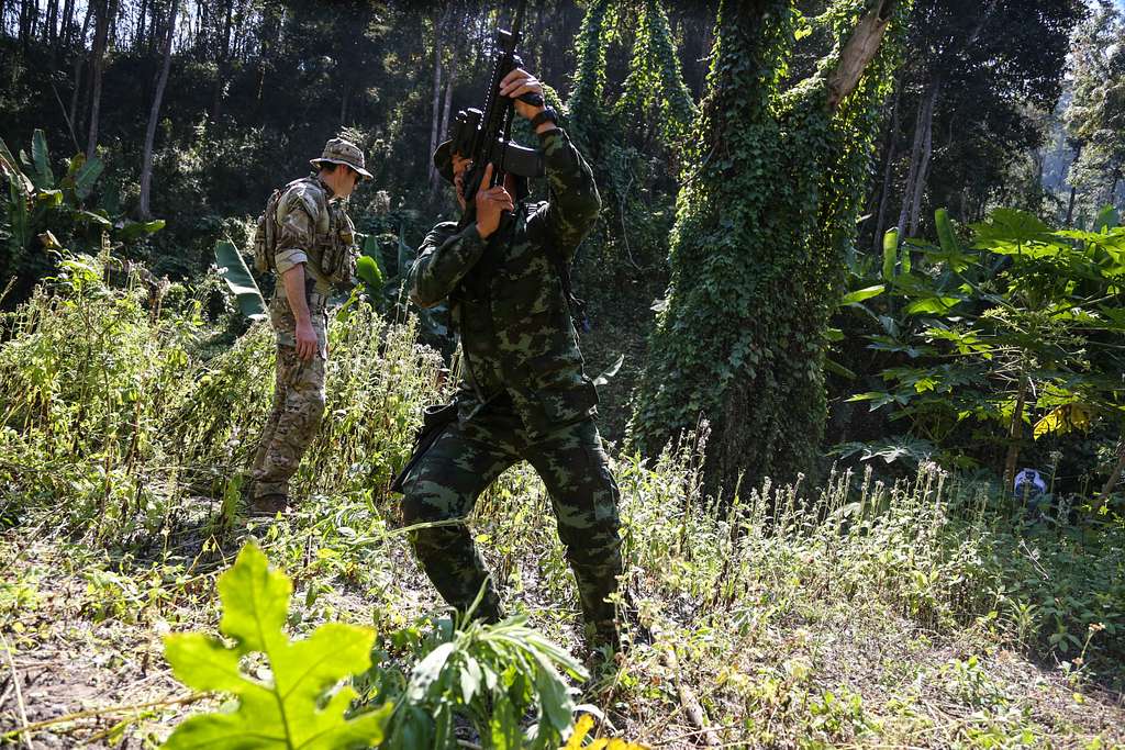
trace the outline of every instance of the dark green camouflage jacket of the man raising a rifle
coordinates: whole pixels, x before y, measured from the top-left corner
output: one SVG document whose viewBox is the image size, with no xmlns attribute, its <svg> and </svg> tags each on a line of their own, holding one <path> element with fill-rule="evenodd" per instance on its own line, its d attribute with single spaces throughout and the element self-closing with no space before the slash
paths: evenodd
<svg viewBox="0 0 1125 750">
<path fill-rule="evenodd" d="M 540 139 L 550 200 L 521 204 L 487 241 L 475 224 L 460 231 L 453 222 L 439 224 L 407 274 L 416 305 L 449 298 L 466 359 L 458 394 L 462 418 L 506 391 L 536 435 L 597 406 L 546 242 L 569 263 L 601 209 L 590 165 L 566 133 L 548 130 Z"/>
</svg>

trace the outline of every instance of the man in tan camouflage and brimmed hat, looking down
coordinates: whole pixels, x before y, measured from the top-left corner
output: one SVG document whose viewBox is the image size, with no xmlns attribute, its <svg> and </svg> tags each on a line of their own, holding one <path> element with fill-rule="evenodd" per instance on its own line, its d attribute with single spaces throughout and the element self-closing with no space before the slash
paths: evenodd
<svg viewBox="0 0 1125 750">
<path fill-rule="evenodd" d="M 289 478 L 316 435 L 324 414 L 324 365 L 327 360 L 326 305 L 333 286 L 346 284 L 356 271 L 354 227 L 344 199 L 369 179 L 363 152 L 333 138 L 316 173 L 290 182 L 276 204 L 272 262 L 278 284 L 270 300 L 277 333 L 273 408 L 267 419 L 252 477 L 252 510 L 273 514 L 289 500 Z"/>
</svg>

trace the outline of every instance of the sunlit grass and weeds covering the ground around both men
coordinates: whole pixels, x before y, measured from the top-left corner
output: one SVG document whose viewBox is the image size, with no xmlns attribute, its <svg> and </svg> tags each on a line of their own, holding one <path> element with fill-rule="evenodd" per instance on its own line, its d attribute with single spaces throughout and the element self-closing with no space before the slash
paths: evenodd
<svg viewBox="0 0 1125 750">
<path fill-rule="evenodd" d="M 518 620 L 457 627 L 385 491 L 421 407 L 440 397 L 408 327 L 356 304 L 338 319 L 304 499 L 248 525 L 241 467 L 264 415 L 268 332 L 207 359 L 190 302 L 153 313 L 145 289 L 105 283 L 105 259 L 68 272 L 70 286 L 8 320 L 0 346 L 9 742 L 151 747 L 204 721 L 190 716 L 236 716 L 242 684 L 188 679 L 218 690 L 192 693 L 165 660 L 170 634 L 237 657 L 237 679 L 280 685 L 219 602 L 248 542 L 292 581 L 290 606 L 271 615 L 279 644 L 315 645 L 324 626 L 372 639 L 369 662 L 349 657 L 316 683 L 332 683 L 317 710 L 346 703 L 356 717 L 390 702 L 387 737 L 434 731 L 413 747 L 439 726 L 462 747 L 513 747 L 513 732 L 523 743 L 544 721 L 565 737 L 582 704 L 597 717 L 585 742 L 1125 742 L 1125 524 L 1113 512 L 1028 521 L 936 467 L 894 487 L 847 472 L 824 490 L 766 486 L 719 509 L 699 491 L 698 444 L 621 457 L 626 585 L 654 642 L 602 659 L 583 649 L 546 493 L 518 467 L 471 519 Z M 507 693 L 519 680 L 526 689 Z M 504 707 L 497 689 L 519 699 Z"/>
</svg>

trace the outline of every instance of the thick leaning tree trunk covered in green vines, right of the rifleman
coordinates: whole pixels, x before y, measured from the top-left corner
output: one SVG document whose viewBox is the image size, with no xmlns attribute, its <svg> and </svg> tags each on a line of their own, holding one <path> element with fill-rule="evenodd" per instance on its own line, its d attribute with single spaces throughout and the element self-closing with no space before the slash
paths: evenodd
<svg viewBox="0 0 1125 750">
<path fill-rule="evenodd" d="M 630 428 L 652 453 L 706 419 L 713 489 L 818 463 L 828 317 L 909 4 L 837 0 L 812 21 L 793 0 L 720 6 Z M 791 81 L 810 22 L 835 47 Z"/>
</svg>

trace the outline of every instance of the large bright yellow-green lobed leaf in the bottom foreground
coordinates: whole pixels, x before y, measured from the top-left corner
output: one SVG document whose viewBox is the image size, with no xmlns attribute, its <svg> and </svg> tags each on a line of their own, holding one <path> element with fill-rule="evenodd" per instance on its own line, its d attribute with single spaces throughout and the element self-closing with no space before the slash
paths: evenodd
<svg viewBox="0 0 1125 750">
<path fill-rule="evenodd" d="M 292 581 L 270 569 L 266 554 L 253 544 L 243 548 L 234 567 L 223 573 L 218 590 L 219 631 L 234 641 L 234 648 L 202 633 L 176 633 L 164 640 L 164 657 L 181 683 L 197 690 L 233 693 L 238 707 L 188 719 L 172 732 L 166 748 L 330 750 L 382 741 L 394 704 L 346 720 L 344 713 L 356 698 L 350 686 L 324 701 L 341 679 L 371 666 L 374 631 L 330 623 L 308 639 L 291 642 L 281 627 Z M 244 657 L 256 652 L 269 662 L 263 679 L 250 677 L 241 666 Z"/>
</svg>

